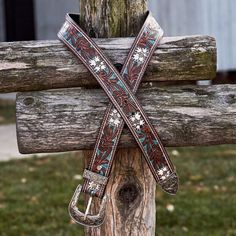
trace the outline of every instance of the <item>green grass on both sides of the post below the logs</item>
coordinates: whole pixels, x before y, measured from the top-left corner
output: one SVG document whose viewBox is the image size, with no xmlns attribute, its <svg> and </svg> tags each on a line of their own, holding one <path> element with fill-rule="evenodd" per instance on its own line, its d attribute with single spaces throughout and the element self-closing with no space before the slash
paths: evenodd
<svg viewBox="0 0 236 236">
<path fill-rule="evenodd" d="M 157 190 L 156 235 L 236 235 L 236 147 L 173 150 L 180 189 Z M 74 153 L 0 163 L 0 235 L 84 235 L 67 213 L 82 163 Z"/>
</svg>

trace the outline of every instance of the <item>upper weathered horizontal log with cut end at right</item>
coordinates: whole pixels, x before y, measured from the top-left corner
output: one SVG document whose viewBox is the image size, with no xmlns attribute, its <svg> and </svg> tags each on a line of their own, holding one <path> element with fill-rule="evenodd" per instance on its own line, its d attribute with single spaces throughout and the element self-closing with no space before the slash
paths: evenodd
<svg viewBox="0 0 236 236">
<path fill-rule="evenodd" d="M 95 39 L 114 64 L 122 64 L 133 38 Z M 164 38 L 143 81 L 210 80 L 216 42 L 208 36 Z M 95 86 L 88 70 L 59 41 L 0 43 L 0 92 Z"/>
</svg>

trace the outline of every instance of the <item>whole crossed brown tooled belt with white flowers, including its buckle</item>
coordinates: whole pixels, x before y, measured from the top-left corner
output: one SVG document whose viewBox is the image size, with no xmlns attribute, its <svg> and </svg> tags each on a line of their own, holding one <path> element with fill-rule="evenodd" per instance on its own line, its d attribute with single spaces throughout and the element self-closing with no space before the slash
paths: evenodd
<svg viewBox="0 0 236 236">
<path fill-rule="evenodd" d="M 111 104 L 105 112 L 91 162 L 84 171 L 84 183 L 77 187 L 69 205 L 69 213 L 80 224 L 99 226 L 105 216 L 107 201 L 107 196 L 104 196 L 105 188 L 124 123 L 127 124 L 143 152 L 156 182 L 169 194 L 175 194 L 178 190 L 175 169 L 156 130 L 134 95 L 148 62 L 163 36 L 163 31 L 148 12 L 144 25 L 119 73 L 78 24 L 79 15 L 67 14 L 58 37 L 93 74 Z M 85 213 L 78 210 L 76 204 L 81 191 L 90 195 L 88 206 L 92 197 L 103 199 L 98 215 L 88 214 L 89 207 Z"/>
</svg>

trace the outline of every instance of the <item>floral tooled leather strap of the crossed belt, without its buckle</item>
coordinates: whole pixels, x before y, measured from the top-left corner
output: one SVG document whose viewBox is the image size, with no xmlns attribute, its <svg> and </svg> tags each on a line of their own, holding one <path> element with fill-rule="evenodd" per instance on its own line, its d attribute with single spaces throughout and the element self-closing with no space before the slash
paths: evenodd
<svg viewBox="0 0 236 236">
<path fill-rule="evenodd" d="M 147 19 L 148 23 L 146 20 L 146 27 L 144 27 L 142 29 L 143 32 L 141 31 L 139 34 L 140 38 L 137 38 L 139 40 L 136 40 L 137 42 L 135 41 L 136 45 L 132 48 L 134 51 L 131 50 L 126 65 L 121 73 L 124 78 L 128 78 L 126 82 L 94 41 L 78 26 L 78 15 L 68 14 L 66 16 L 66 22 L 58 33 L 58 36 L 94 75 L 115 107 L 114 109 L 112 106 L 109 106 L 102 127 L 106 126 L 109 129 L 114 128 L 117 132 L 112 132 L 111 134 L 113 134 L 113 136 L 104 133 L 104 131 L 109 132 L 109 129 L 106 128 L 102 128 L 103 132 L 100 132 L 100 134 L 105 134 L 105 136 L 111 136 L 107 139 L 108 145 L 109 141 L 114 142 L 116 140 L 118 142 L 123 128 L 123 118 L 142 150 L 157 183 L 161 185 L 164 191 L 175 194 L 178 189 L 178 177 L 173 165 L 157 132 L 150 124 L 141 105 L 131 91 L 131 89 L 133 89 L 134 92 L 137 91 L 139 82 L 150 58 L 148 55 L 153 53 L 156 43 L 160 38 L 160 35 L 158 35 L 160 27 L 154 18 L 149 15 Z M 148 44 L 150 48 L 146 48 Z M 153 45 L 154 47 L 152 47 Z M 133 57 L 131 55 L 133 55 Z M 145 63 L 141 70 L 136 72 L 140 75 L 138 76 L 140 79 L 137 79 L 137 83 L 135 83 L 135 80 L 132 81 L 135 77 L 132 77 L 131 74 L 132 72 L 135 73 L 135 68 L 139 66 L 139 63 L 142 64 L 144 59 Z M 131 66 L 131 63 L 133 63 L 133 66 Z M 130 87 L 127 85 L 127 82 Z M 106 125 L 106 121 L 108 121 L 108 125 Z M 114 133 L 116 135 L 114 135 Z M 114 142 L 114 146 L 112 146 L 112 144 L 108 148 L 110 150 L 112 147 L 116 148 L 117 142 Z M 107 152 L 107 150 L 105 150 L 105 152 Z M 109 160 L 113 159 L 112 155 L 114 156 L 114 151 L 112 155 L 108 155 L 105 160 L 103 157 L 100 157 L 101 154 L 102 150 L 96 149 L 94 155 L 95 159 L 92 160 L 92 165 L 90 165 L 89 170 L 87 170 L 84 175 L 88 181 L 85 182 L 85 187 L 83 188 L 85 192 L 98 197 L 103 196 L 106 181 L 96 181 L 96 174 L 101 176 L 109 175 L 109 167 L 111 166 L 111 164 L 109 165 Z M 108 168 L 106 168 L 106 166 L 108 166 Z"/>
</svg>

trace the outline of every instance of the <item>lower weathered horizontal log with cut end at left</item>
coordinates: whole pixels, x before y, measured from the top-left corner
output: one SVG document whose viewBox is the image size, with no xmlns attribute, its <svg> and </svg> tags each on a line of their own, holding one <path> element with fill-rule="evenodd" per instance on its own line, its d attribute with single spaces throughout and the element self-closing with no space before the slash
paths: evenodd
<svg viewBox="0 0 236 236">
<path fill-rule="evenodd" d="M 137 96 L 166 146 L 236 143 L 236 86 L 143 87 Z M 20 93 L 22 153 L 91 149 L 108 104 L 100 89 Z M 119 147 L 135 147 L 127 129 Z"/>
</svg>

